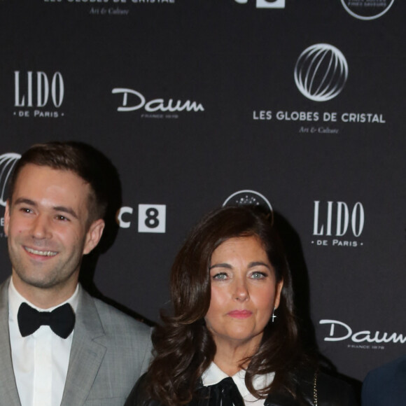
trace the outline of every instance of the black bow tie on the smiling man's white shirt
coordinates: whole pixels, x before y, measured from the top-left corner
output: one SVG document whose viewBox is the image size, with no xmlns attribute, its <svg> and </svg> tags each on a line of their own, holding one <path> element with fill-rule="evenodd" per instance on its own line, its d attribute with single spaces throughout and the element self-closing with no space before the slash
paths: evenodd
<svg viewBox="0 0 406 406">
<path fill-rule="evenodd" d="M 36 332 L 41 325 L 49 325 L 55 334 L 66 338 L 75 326 L 75 314 L 69 303 L 65 303 L 52 311 L 38 311 L 27 303 L 22 303 L 18 309 L 17 318 L 22 337 Z"/>
</svg>

